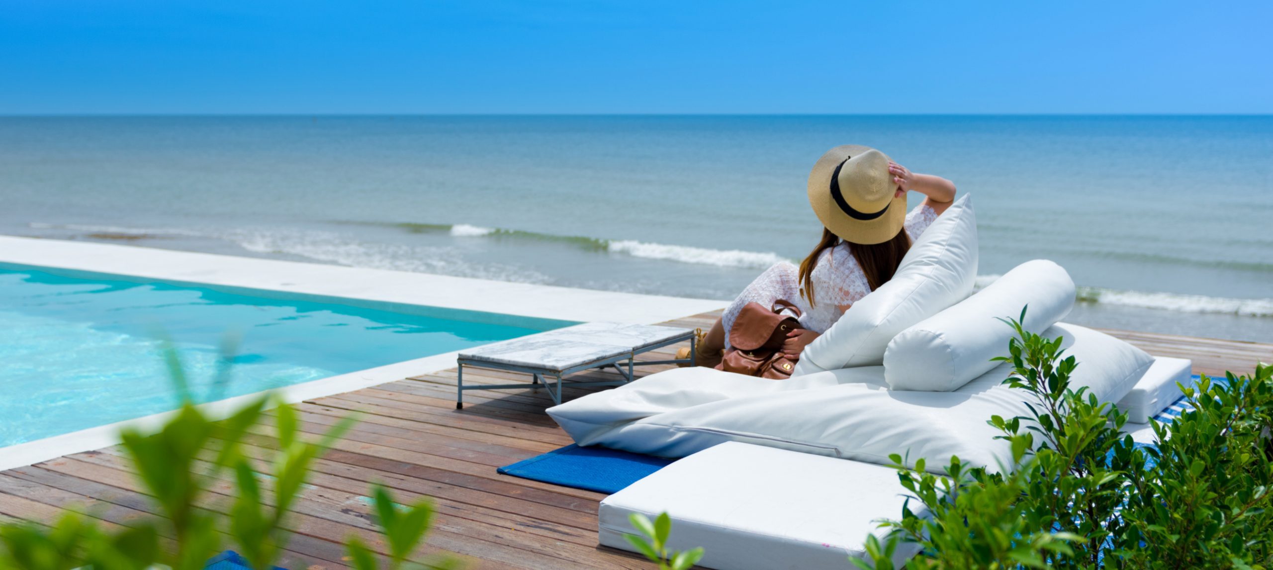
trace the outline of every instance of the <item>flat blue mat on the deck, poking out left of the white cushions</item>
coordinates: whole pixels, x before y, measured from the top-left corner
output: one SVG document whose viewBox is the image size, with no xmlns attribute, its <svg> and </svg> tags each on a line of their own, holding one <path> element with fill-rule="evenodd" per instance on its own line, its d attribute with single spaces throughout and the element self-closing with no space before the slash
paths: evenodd
<svg viewBox="0 0 1273 570">
<path fill-rule="evenodd" d="M 570 444 L 499 468 L 500 473 L 589 491 L 619 492 L 676 459 Z"/>
</svg>

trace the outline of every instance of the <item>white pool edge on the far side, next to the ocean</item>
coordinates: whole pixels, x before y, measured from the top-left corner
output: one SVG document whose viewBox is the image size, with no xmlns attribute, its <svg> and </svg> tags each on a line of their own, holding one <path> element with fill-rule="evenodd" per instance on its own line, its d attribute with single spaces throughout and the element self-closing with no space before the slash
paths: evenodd
<svg viewBox="0 0 1273 570">
<path fill-rule="evenodd" d="M 728 304 L 726 300 L 11 235 L 0 235 L 0 262 L 205 286 L 575 322 L 653 324 L 721 309 Z"/>
</svg>

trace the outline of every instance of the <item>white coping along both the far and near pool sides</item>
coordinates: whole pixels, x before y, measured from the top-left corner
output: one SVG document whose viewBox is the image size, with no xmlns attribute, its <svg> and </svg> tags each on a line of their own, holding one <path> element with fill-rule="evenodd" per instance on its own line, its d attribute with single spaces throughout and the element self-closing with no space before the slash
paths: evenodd
<svg viewBox="0 0 1273 570">
<path fill-rule="evenodd" d="M 721 309 L 728 303 L 10 235 L 0 235 L 0 262 L 200 286 L 318 295 L 334 302 L 348 299 L 575 322 L 653 324 Z M 274 392 L 279 401 L 286 403 L 353 392 L 446 370 L 454 365 L 458 354 L 444 352 L 236 396 L 200 405 L 199 408 L 213 419 L 224 419 L 266 392 Z M 154 414 L 0 448 L 0 471 L 115 445 L 120 443 L 121 429 L 157 429 L 173 414 Z"/>
</svg>

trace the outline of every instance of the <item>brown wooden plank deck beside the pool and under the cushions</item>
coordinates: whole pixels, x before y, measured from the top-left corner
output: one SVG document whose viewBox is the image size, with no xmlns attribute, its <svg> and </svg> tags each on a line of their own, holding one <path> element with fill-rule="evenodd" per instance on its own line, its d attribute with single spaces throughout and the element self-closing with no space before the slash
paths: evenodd
<svg viewBox="0 0 1273 570">
<path fill-rule="evenodd" d="M 708 327 L 717 314 L 668 324 Z M 1273 361 L 1273 345 L 1106 331 L 1151 354 L 1194 359 L 1194 372 L 1250 372 Z M 651 352 L 666 359 L 675 347 Z M 667 366 L 662 366 L 667 368 Z M 643 373 L 658 370 L 649 366 Z M 466 370 L 475 382 L 507 382 L 524 375 Z M 593 377 L 617 377 L 614 372 Z M 573 398 L 588 389 L 565 388 Z M 298 405 L 304 430 L 322 433 L 351 412 L 358 424 L 317 463 L 297 513 L 283 565 L 290 569 L 345 567 L 340 543 L 350 534 L 373 534 L 368 486 L 392 487 L 400 499 L 433 497 L 438 508 L 426 551 L 461 555 L 468 567 L 648 569 L 628 552 L 597 546 L 597 503 L 602 494 L 559 487 L 495 473 L 495 468 L 556 449 L 570 439 L 544 414 L 546 394 L 466 392 L 454 408 L 454 370 L 392 382 Z M 262 457 L 274 445 L 271 426 L 260 425 L 248 452 Z M 205 505 L 225 513 L 230 482 L 222 481 Z M 129 525 L 154 514 L 122 452 L 107 448 L 31 467 L 0 472 L 0 519 L 48 522 L 70 506 L 88 508 L 107 527 Z"/>
</svg>

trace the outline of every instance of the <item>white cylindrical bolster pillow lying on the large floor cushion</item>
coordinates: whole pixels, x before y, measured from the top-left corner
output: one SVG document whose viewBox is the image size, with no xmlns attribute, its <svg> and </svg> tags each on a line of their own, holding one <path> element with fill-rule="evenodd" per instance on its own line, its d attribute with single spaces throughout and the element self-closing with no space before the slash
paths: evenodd
<svg viewBox="0 0 1273 570">
<path fill-rule="evenodd" d="M 1008 354 L 1016 332 L 999 321 L 1029 305 L 1026 331 L 1037 333 L 1074 308 L 1074 281 L 1059 265 L 1027 261 L 964 299 L 901 331 L 883 352 L 883 377 L 892 389 L 947 392 L 985 374 Z"/>
</svg>

